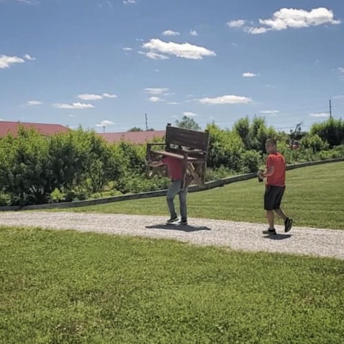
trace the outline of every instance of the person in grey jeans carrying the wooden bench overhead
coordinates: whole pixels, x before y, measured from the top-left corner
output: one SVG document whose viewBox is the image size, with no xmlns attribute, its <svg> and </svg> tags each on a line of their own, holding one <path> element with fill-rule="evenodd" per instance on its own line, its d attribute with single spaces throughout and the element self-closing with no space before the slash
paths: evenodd
<svg viewBox="0 0 344 344">
<path fill-rule="evenodd" d="M 187 225 L 187 208 L 186 208 L 186 195 L 188 193 L 188 188 L 182 189 L 182 182 L 184 181 L 183 164 L 182 160 L 164 157 L 162 160 L 149 162 L 149 166 L 161 166 L 166 165 L 169 168 L 169 174 L 171 178 L 171 185 L 169 186 L 169 191 L 167 192 L 166 202 L 169 207 L 169 212 L 171 217 L 167 220 L 167 224 L 178 221 L 178 215 L 175 213 L 174 198 L 179 195 L 180 202 L 180 224 Z"/>
</svg>

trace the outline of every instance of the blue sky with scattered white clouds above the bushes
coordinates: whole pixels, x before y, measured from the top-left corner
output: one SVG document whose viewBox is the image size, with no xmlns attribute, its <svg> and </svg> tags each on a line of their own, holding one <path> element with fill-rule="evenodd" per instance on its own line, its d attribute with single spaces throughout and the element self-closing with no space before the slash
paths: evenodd
<svg viewBox="0 0 344 344">
<path fill-rule="evenodd" d="M 308 129 L 344 113 L 343 21 L 341 0 L 0 0 L 0 119 Z"/>
</svg>

